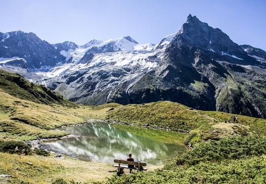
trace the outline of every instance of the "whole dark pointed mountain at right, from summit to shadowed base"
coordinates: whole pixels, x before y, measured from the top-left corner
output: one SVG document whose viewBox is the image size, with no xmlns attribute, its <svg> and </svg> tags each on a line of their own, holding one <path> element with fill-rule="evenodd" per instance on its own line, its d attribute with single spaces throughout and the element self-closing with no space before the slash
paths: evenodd
<svg viewBox="0 0 266 184">
<path fill-rule="evenodd" d="M 169 100 L 196 109 L 266 118 L 265 73 L 238 64 L 266 66 L 221 30 L 190 15 L 156 70 L 144 75 L 127 93 L 121 84 L 107 102 Z"/>
</svg>

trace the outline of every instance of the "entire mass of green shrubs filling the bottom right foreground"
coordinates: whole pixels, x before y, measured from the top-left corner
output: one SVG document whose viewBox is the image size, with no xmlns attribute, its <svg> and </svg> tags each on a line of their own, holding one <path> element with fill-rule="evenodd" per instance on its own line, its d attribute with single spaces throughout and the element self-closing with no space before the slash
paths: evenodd
<svg viewBox="0 0 266 184">
<path fill-rule="evenodd" d="M 163 169 L 113 176 L 105 183 L 265 183 L 265 141 L 238 136 L 201 143 Z"/>
</svg>

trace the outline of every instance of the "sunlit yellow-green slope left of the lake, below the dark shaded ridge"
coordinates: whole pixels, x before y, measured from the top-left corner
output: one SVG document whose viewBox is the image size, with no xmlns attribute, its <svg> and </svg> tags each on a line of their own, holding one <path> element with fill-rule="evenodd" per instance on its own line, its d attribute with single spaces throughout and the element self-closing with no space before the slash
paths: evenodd
<svg viewBox="0 0 266 184">
<path fill-rule="evenodd" d="M 17 99 L 0 89 L 0 139 L 31 140 L 66 135 L 51 130 L 62 125 L 104 118 L 109 108 L 94 110 L 89 106 L 45 105 Z"/>
</svg>

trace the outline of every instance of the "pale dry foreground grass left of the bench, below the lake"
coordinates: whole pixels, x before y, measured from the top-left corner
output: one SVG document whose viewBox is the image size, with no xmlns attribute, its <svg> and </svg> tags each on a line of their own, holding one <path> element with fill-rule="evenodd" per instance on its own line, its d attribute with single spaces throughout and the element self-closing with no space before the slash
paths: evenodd
<svg viewBox="0 0 266 184">
<path fill-rule="evenodd" d="M 33 165 L 28 165 L 30 162 Z M 14 169 L 18 168 L 18 169 Z M 10 174 L 12 183 L 52 183 L 56 178 L 82 182 L 103 181 L 114 173 L 110 164 L 83 162 L 73 158 L 27 155 L 0 152 L 0 173 Z M 0 178 L 1 182 L 1 178 Z"/>
</svg>

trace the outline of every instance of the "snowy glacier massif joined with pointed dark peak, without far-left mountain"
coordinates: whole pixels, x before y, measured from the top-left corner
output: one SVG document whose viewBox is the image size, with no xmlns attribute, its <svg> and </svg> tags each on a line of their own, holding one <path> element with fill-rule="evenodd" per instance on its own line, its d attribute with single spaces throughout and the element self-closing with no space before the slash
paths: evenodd
<svg viewBox="0 0 266 184">
<path fill-rule="evenodd" d="M 0 38 L 9 39 L 7 34 Z M 19 64 L 12 68 L 83 104 L 169 100 L 196 109 L 266 117 L 265 52 L 238 45 L 196 16 L 189 15 L 178 32 L 158 44 L 139 44 L 126 36 L 63 46 L 60 52 L 54 48 L 63 59 L 46 72 L 27 71 Z M 5 61 L 10 57 L 3 58 L 0 67 L 13 70 Z"/>
</svg>

